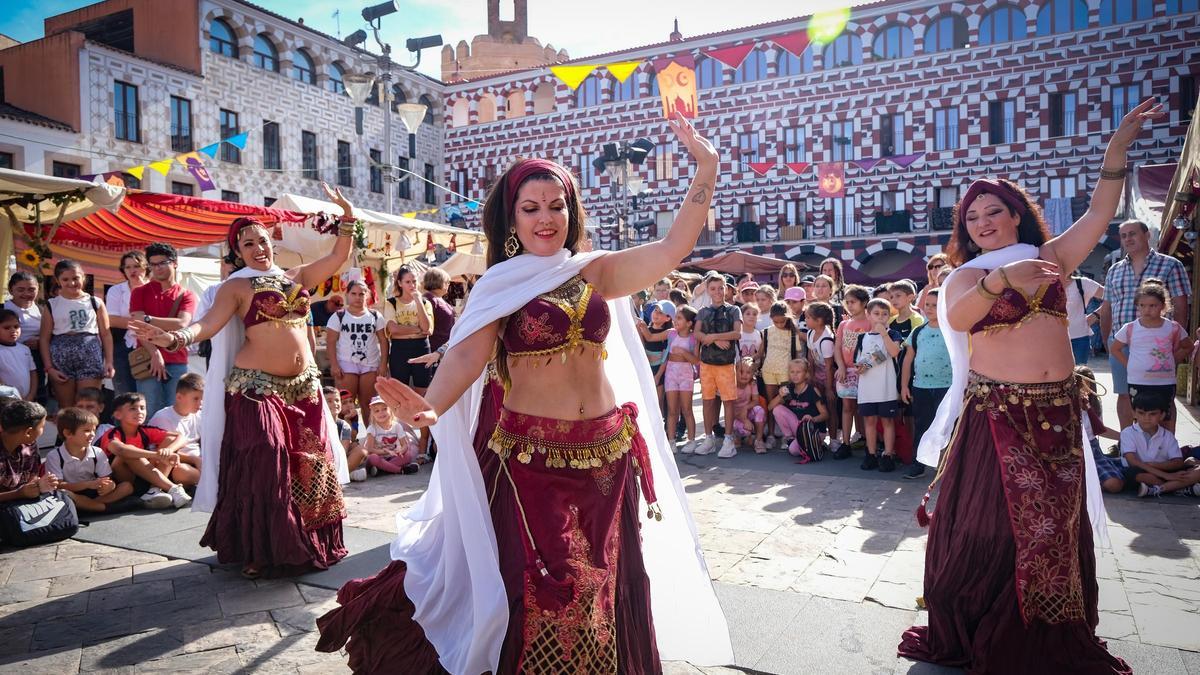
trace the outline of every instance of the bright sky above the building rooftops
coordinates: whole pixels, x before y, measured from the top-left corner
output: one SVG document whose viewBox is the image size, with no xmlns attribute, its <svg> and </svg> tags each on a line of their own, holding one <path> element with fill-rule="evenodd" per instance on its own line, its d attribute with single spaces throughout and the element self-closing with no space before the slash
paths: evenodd
<svg viewBox="0 0 1200 675">
<path fill-rule="evenodd" d="M 158 0 L 167 1 L 167 0 Z M 449 44 L 468 43 L 487 30 L 486 0 L 400 0 L 401 10 L 383 19 L 382 37 L 391 42 L 400 62 L 406 62 L 404 40 L 440 34 Z M 502 6 L 505 0 L 502 0 Z M 0 32 L 22 42 L 42 37 L 42 19 L 94 4 L 94 0 L 5 0 Z M 348 35 L 366 23 L 362 7 L 374 0 L 256 0 L 256 5 L 298 19 L 330 35 Z M 863 5 L 866 0 L 749 0 L 698 2 L 696 0 L 529 0 L 529 35 L 571 58 L 601 54 L 641 44 L 662 42 L 671 34 L 674 18 L 684 37 L 731 28 L 760 24 L 836 6 Z M 510 5 L 511 6 L 511 5 Z M 736 7 L 734 11 L 731 11 Z M 334 12 L 341 12 L 338 19 Z M 511 17 L 511 10 L 508 16 Z M 504 11 L 502 10 L 502 18 Z M 371 49 L 374 50 L 373 42 Z M 427 50 L 421 71 L 440 77 L 440 53 Z"/>
</svg>

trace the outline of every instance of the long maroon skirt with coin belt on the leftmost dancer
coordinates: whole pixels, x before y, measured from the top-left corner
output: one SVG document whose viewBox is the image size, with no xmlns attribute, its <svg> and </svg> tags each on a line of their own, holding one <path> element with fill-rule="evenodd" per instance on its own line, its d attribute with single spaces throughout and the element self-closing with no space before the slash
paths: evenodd
<svg viewBox="0 0 1200 675">
<path fill-rule="evenodd" d="M 227 380 L 217 503 L 202 546 L 264 577 L 346 557 L 346 507 L 316 366 L 295 377 L 233 369 Z"/>
</svg>

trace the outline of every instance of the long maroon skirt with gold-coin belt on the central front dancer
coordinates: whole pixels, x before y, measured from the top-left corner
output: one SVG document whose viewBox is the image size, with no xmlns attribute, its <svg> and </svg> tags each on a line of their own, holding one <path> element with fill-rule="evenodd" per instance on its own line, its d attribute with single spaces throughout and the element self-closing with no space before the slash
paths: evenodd
<svg viewBox="0 0 1200 675">
<path fill-rule="evenodd" d="M 475 432 L 509 598 L 497 673 L 661 673 L 642 566 L 648 462 L 636 407 L 575 422 L 497 412 L 498 400 L 485 394 Z M 317 649 L 348 641 L 355 673 L 443 673 L 413 621 L 404 572 L 395 561 L 343 586 L 342 607 L 317 620 Z"/>
</svg>

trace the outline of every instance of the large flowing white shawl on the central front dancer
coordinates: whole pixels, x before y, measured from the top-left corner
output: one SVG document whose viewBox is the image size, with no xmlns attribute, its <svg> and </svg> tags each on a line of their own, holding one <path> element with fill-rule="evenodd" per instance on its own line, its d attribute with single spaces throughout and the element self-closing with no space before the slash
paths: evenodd
<svg viewBox="0 0 1200 675">
<path fill-rule="evenodd" d="M 472 291 L 467 310 L 450 334 L 450 347 L 553 291 L 600 255 L 569 257 L 565 250 L 553 256 L 527 253 L 493 265 Z M 662 431 L 654 380 L 629 299 L 610 299 L 608 311 L 614 329 L 605 342 L 605 374 L 618 402 L 637 404 L 637 425 L 650 447 L 662 509 L 661 521 L 646 519 L 646 509 L 640 509 L 659 653 L 664 659 L 698 665 L 731 663 L 725 615 Z M 480 376 L 432 426 L 438 461 L 430 486 L 412 509 L 396 516 L 398 534 L 391 544 L 391 557 L 408 566 L 404 590 L 416 605 L 414 619 L 437 649 L 442 665 L 458 675 L 498 669 L 509 622 L 496 531 L 473 446 L 482 390 Z"/>
</svg>

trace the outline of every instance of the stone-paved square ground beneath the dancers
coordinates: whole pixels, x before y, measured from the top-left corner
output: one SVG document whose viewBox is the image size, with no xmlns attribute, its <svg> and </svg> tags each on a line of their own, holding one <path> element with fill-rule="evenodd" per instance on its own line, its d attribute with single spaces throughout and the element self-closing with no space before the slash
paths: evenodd
<svg viewBox="0 0 1200 675">
<path fill-rule="evenodd" d="M 1181 420 L 1183 441 L 1200 441 L 1198 430 L 1190 417 Z M 913 519 L 924 484 L 899 472 L 860 472 L 856 460 L 797 466 L 781 453 L 680 458 L 679 467 L 739 668 L 704 673 L 948 671 L 895 657 L 900 632 L 924 621 L 916 598 L 925 533 Z M 396 512 L 426 480 L 422 472 L 352 484 L 348 532 L 386 540 Z M 1100 635 L 1138 671 L 1200 675 L 1200 500 L 1110 496 L 1106 506 L 1111 545 L 1097 551 Z M 110 522 L 127 522 L 126 540 L 136 548 L 158 550 L 155 537 L 136 536 L 138 520 Z M 205 562 L 144 550 L 80 540 L 4 550 L 0 667 L 22 674 L 347 670 L 344 655 L 313 651 L 313 621 L 334 605 L 331 589 L 247 581 L 210 565 L 199 549 L 179 555 Z M 700 673 L 683 663 L 666 671 Z"/>
</svg>

